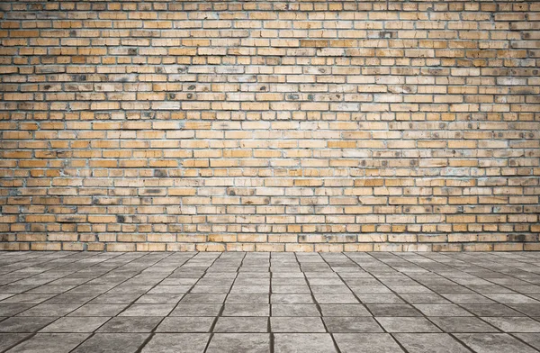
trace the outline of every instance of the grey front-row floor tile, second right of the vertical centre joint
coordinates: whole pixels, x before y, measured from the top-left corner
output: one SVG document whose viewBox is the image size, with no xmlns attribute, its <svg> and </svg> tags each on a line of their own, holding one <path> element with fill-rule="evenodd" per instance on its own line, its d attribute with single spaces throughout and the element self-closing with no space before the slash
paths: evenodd
<svg viewBox="0 0 540 353">
<path fill-rule="evenodd" d="M 403 353 L 388 333 L 336 333 L 341 353 Z"/>
</svg>

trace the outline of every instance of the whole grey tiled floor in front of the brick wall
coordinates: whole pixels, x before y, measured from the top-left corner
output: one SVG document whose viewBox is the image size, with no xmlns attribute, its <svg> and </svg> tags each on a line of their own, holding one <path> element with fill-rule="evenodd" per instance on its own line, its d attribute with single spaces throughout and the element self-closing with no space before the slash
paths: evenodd
<svg viewBox="0 0 540 353">
<path fill-rule="evenodd" d="M 540 253 L 0 252 L 0 351 L 537 352 Z"/>
</svg>

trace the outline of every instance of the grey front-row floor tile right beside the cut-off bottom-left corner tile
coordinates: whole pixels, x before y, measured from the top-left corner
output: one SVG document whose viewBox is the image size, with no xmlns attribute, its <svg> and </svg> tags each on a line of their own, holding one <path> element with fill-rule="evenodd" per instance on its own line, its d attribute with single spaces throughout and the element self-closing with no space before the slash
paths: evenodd
<svg viewBox="0 0 540 353">
<path fill-rule="evenodd" d="M 86 333 L 38 333 L 24 340 L 9 353 L 67 353 L 88 338 Z"/>
</svg>

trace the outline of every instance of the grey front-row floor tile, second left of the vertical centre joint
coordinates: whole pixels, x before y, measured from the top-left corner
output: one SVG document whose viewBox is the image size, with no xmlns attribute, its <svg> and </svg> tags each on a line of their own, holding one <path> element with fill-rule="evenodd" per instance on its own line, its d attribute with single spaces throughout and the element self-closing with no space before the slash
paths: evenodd
<svg viewBox="0 0 540 353">
<path fill-rule="evenodd" d="M 157 333 L 141 353 L 203 353 L 208 339 L 207 333 Z"/>
</svg>

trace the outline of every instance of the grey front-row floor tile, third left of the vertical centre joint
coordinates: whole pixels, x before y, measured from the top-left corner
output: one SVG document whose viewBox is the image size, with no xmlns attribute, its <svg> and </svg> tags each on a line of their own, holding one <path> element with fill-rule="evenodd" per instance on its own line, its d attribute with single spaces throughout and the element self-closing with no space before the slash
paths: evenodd
<svg viewBox="0 0 540 353">
<path fill-rule="evenodd" d="M 74 349 L 73 353 L 134 353 L 148 333 L 96 333 Z"/>
</svg>

